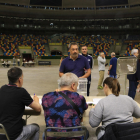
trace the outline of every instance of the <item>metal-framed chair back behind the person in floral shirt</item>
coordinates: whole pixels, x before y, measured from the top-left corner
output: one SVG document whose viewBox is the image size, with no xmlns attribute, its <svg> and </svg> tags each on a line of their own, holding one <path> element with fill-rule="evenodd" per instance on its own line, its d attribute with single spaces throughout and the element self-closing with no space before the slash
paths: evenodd
<svg viewBox="0 0 140 140">
<path fill-rule="evenodd" d="M 51 129 L 51 131 L 47 131 Z M 72 131 L 73 129 L 79 129 L 77 131 Z M 68 132 L 54 132 L 53 130 L 71 130 Z M 87 128 L 84 126 L 77 127 L 47 127 L 44 131 L 45 140 L 47 137 L 55 137 L 55 138 L 73 138 L 73 137 L 81 137 L 84 136 L 84 140 L 87 139 Z"/>
</svg>

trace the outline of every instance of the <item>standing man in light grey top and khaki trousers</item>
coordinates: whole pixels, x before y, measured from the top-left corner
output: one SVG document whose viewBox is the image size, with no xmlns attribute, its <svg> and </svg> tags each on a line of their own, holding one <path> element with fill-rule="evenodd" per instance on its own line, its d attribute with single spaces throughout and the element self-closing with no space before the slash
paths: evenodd
<svg viewBox="0 0 140 140">
<path fill-rule="evenodd" d="M 98 56 L 97 58 L 98 60 L 98 69 L 99 69 L 99 81 L 98 81 L 98 89 L 103 89 L 102 82 L 104 80 L 104 73 L 105 73 L 105 63 L 106 63 L 106 59 L 105 59 L 105 54 L 104 52 L 100 53 L 100 56 Z"/>
</svg>

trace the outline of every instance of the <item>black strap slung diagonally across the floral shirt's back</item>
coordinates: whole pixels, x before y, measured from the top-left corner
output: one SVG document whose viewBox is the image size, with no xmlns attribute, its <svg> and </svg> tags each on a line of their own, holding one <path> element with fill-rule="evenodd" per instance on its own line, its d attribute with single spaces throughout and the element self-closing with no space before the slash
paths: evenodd
<svg viewBox="0 0 140 140">
<path fill-rule="evenodd" d="M 59 92 L 59 94 L 62 95 L 72 105 L 73 109 L 76 110 L 76 112 L 77 112 L 77 114 L 79 116 L 79 119 L 81 120 L 83 118 L 83 115 L 81 114 L 78 106 L 67 95 L 65 95 L 64 93 Z"/>
</svg>

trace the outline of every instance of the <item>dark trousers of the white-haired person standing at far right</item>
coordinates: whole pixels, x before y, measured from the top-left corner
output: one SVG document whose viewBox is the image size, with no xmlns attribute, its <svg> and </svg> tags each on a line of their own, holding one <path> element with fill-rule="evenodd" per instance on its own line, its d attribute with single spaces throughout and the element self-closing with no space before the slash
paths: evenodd
<svg viewBox="0 0 140 140">
<path fill-rule="evenodd" d="M 137 81 L 130 81 L 129 80 L 128 96 L 130 96 L 133 99 L 135 98 L 135 95 L 136 95 L 137 86 L 138 86 L 138 82 Z"/>
</svg>

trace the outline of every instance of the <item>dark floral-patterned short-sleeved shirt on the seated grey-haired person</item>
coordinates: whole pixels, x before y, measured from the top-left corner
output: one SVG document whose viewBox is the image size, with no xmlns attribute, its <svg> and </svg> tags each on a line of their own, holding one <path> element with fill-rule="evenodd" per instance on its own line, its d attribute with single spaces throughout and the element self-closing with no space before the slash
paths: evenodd
<svg viewBox="0 0 140 140">
<path fill-rule="evenodd" d="M 62 92 L 72 99 L 82 114 L 84 110 L 88 108 L 85 98 L 77 92 L 71 92 L 68 90 Z M 80 119 L 76 110 L 73 109 L 71 104 L 58 92 L 49 92 L 45 94 L 42 98 L 42 106 L 44 109 L 46 127 L 80 126 Z M 55 139 L 49 138 L 49 140 Z M 82 139 L 78 138 L 78 140 Z"/>
</svg>

